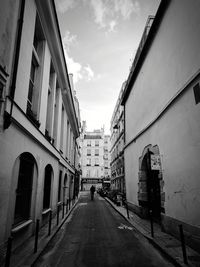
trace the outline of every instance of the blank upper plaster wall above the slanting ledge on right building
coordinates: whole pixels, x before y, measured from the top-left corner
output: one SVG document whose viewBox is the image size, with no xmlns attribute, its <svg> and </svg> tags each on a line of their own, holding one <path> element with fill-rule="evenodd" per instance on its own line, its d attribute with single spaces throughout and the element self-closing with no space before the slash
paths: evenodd
<svg viewBox="0 0 200 267">
<path fill-rule="evenodd" d="M 171 1 L 126 103 L 126 142 L 199 69 L 200 1 Z M 134 105 L 133 105 L 134 103 Z"/>
</svg>

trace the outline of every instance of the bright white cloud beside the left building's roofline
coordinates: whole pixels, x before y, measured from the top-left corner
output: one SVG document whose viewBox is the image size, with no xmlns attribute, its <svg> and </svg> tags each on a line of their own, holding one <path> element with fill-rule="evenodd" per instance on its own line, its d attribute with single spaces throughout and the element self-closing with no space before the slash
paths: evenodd
<svg viewBox="0 0 200 267">
<path fill-rule="evenodd" d="M 65 32 L 64 38 L 62 39 L 63 48 L 65 53 L 65 59 L 67 62 L 67 68 L 69 73 L 73 73 L 74 83 L 77 83 L 79 80 L 91 81 L 95 78 L 94 71 L 91 66 L 87 64 L 83 66 L 81 63 L 76 62 L 70 54 L 70 47 L 77 45 L 77 36 L 70 34 L 69 31 Z"/>
</svg>

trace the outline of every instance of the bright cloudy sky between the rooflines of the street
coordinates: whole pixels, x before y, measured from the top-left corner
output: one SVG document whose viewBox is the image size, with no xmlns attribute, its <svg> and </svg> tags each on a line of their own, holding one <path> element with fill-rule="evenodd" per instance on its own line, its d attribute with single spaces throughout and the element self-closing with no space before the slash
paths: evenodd
<svg viewBox="0 0 200 267">
<path fill-rule="evenodd" d="M 68 72 L 87 130 L 110 121 L 149 15 L 160 0 L 55 0 Z"/>
</svg>

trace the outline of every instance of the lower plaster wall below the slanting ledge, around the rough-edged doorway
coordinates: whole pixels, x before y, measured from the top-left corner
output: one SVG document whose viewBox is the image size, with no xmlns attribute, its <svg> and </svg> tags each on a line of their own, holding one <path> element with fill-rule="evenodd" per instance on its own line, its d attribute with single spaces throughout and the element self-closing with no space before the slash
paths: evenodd
<svg viewBox="0 0 200 267">
<path fill-rule="evenodd" d="M 126 148 L 126 190 L 130 202 L 138 205 L 139 157 L 146 145 L 158 145 L 166 215 L 200 226 L 199 116 L 200 104 L 195 105 L 190 87 L 156 124 Z"/>
</svg>

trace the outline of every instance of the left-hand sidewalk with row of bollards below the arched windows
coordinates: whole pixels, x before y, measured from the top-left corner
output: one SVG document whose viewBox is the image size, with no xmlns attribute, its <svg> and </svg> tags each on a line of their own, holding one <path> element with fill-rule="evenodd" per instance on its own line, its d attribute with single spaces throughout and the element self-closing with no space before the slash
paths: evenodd
<svg viewBox="0 0 200 267">
<path fill-rule="evenodd" d="M 75 201 L 72 201 L 70 207 L 68 207 L 67 210 L 65 207 L 63 218 L 62 218 L 62 210 L 60 210 L 58 224 L 57 224 L 57 216 L 52 217 L 50 235 L 48 235 L 48 231 L 49 231 L 48 223 L 39 229 L 38 246 L 37 246 L 38 249 L 36 253 L 34 253 L 35 236 L 30 237 L 20 247 L 12 251 L 9 267 L 32 266 L 32 264 L 36 261 L 36 259 L 39 257 L 39 255 L 44 250 L 44 248 L 47 246 L 49 241 L 55 236 L 55 234 L 59 231 L 63 223 L 67 220 L 70 213 L 76 206 L 77 202 L 78 202 L 78 199 L 76 199 Z M 4 264 L 2 265 L 2 267 L 5 266 Z"/>
</svg>

